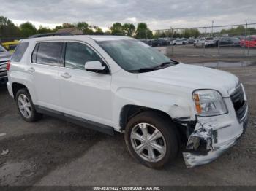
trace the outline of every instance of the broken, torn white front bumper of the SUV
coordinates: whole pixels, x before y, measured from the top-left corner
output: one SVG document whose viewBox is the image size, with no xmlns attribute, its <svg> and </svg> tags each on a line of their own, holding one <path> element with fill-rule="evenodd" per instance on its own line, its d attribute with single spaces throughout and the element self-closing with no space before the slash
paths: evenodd
<svg viewBox="0 0 256 191">
<path fill-rule="evenodd" d="M 228 99 L 226 104 L 232 106 Z M 195 130 L 187 141 L 187 152 L 183 153 L 187 167 L 210 163 L 236 144 L 246 129 L 247 112 L 248 106 L 241 120 L 234 111 L 222 116 L 197 117 Z"/>
</svg>

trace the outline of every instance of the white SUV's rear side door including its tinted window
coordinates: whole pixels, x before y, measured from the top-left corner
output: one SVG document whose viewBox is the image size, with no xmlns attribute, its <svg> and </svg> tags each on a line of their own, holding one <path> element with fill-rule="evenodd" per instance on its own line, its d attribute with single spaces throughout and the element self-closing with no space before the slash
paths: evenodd
<svg viewBox="0 0 256 191">
<path fill-rule="evenodd" d="M 61 52 L 64 42 L 38 42 L 31 55 L 28 71 L 34 79 L 37 103 L 60 110 L 59 68 L 64 67 Z"/>
</svg>

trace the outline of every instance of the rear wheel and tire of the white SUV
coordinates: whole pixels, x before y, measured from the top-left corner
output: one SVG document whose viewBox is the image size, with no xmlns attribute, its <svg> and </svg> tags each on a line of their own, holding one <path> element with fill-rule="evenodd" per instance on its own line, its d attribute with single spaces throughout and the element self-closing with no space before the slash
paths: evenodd
<svg viewBox="0 0 256 191">
<path fill-rule="evenodd" d="M 18 90 L 15 96 L 15 101 L 16 106 L 18 108 L 18 112 L 20 116 L 23 118 L 23 120 L 27 122 L 35 122 L 42 118 L 42 114 L 36 112 L 36 109 L 31 100 L 31 96 L 29 95 L 28 90 Z"/>
</svg>

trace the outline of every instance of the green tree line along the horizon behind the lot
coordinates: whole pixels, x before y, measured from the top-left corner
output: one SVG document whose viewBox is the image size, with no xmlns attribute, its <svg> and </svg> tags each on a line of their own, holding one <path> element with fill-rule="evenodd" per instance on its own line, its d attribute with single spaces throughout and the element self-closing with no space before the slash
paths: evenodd
<svg viewBox="0 0 256 191">
<path fill-rule="evenodd" d="M 173 38 L 189 38 L 198 37 L 202 34 L 197 28 L 186 28 L 182 30 L 165 30 L 165 31 L 151 31 L 146 23 L 138 23 L 135 27 L 132 23 L 113 23 L 107 31 L 103 31 L 99 26 L 89 25 L 86 22 L 78 23 L 63 23 L 61 26 L 55 28 L 48 28 L 45 26 L 39 26 L 37 29 L 32 23 L 26 22 L 15 26 L 12 20 L 7 17 L 0 16 L 0 39 L 13 39 L 13 38 L 26 38 L 34 34 L 53 33 L 61 28 L 78 28 L 83 31 L 83 34 L 112 34 L 112 35 L 124 35 L 132 36 L 137 39 L 157 39 L 164 37 Z M 244 26 L 238 26 L 236 28 L 222 29 L 220 34 L 230 35 L 244 35 L 246 29 Z M 256 34 L 255 28 L 247 28 L 246 34 Z"/>
</svg>

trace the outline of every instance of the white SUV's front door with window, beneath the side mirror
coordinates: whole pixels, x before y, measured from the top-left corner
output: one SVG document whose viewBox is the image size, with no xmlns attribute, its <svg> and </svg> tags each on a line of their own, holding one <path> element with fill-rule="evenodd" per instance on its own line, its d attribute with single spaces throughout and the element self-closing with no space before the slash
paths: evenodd
<svg viewBox="0 0 256 191">
<path fill-rule="evenodd" d="M 86 71 L 85 63 L 100 61 L 99 54 L 81 42 L 66 42 L 60 71 L 60 94 L 64 112 L 110 125 L 112 119 L 111 75 Z M 108 66 L 107 66 L 108 67 Z"/>
</svg>

